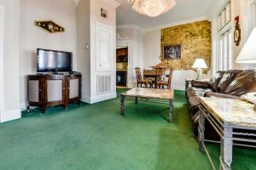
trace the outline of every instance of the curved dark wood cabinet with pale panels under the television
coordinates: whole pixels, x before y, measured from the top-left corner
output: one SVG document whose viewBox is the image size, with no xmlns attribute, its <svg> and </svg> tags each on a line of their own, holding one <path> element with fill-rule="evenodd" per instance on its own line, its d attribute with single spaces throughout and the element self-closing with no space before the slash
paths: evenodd
<svg viewBox="0 0 256 170">
<path fill-rule="evenodd" d="M 82 75 L 29 75 L 27 76 L 27 111 L 39 106 L 44 113 L 46 107 L 67 105 L 81 101 Z"/>
</svg>

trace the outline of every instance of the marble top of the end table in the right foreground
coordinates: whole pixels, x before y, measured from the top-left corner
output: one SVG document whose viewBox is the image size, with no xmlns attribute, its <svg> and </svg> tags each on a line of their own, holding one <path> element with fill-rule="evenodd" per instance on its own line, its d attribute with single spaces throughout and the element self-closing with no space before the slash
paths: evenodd
<svg viewBox="0 0 256 170">
<path fill-rule="evenodd" d="M 253 104 L 241 99 L 200 98 L 212 116 L 226 125 L 239 127 L 256 127 L 256 111 Z"/>
</svg>

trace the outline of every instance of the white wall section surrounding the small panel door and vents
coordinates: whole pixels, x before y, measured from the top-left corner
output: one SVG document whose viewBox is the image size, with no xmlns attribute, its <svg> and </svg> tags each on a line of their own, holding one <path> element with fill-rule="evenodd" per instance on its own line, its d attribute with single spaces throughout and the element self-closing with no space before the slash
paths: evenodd
<svg viewBox="0 0 256 170">
<path fill-rule="evenodd" d="M 110 3 L 109 3 L 110 2 Z M 113 5 L 111 3 L 114 3 Z M 114 1 L 108 0 L 90 0 L 90 101 L 96 103 L 106 99 L 116 98 L 116 7 Z M 108 18 L 102 18 L 101 8 L 108 11 Z M 110 71 L 96 70 L 96 23 L 101 23 L 113 30 L 113 47 L 112 47 L 112 68 Z M 97 76 L 111 76 L 111 91 L 108 94 L 97 94 Z"/>
</svg>

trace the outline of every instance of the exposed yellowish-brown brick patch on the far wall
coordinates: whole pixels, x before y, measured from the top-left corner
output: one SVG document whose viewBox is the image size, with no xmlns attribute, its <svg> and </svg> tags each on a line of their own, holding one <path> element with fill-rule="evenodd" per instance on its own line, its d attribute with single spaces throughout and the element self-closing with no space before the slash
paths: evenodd
<svg viewBox="0 0 256 170">
<path fill-rule="evenodd" d="M 172 26 L 161 30 L 160 64 L 176 70 L 191 70 L 195 59 L 203 56 L 208 69 L 211 69 L 212 37 L 211 22 L 208 20 L 193 22 L 180 26 Z M 180 59 L 165 59 L 164 48 L 170 44 L 181 45 Z"/>
</svg>

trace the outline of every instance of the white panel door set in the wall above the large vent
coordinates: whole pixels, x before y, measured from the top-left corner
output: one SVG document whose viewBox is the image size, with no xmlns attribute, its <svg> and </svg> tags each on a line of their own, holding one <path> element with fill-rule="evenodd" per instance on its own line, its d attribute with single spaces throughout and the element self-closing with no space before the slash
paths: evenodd
<svg viewBox="0 0 256 170">
<path fill-rule="evenodd" d="M 113 29 L 96 23 L 96 71 L 111 71 L 113 60 Z"/>
</svg>

